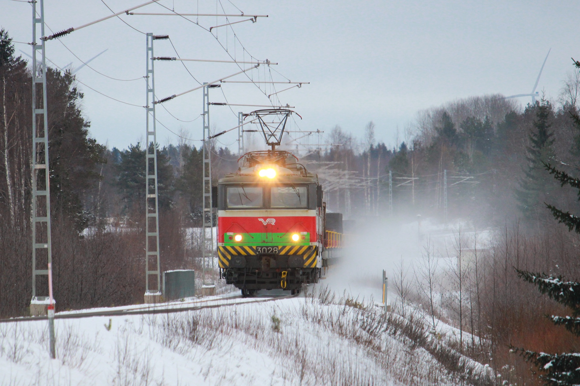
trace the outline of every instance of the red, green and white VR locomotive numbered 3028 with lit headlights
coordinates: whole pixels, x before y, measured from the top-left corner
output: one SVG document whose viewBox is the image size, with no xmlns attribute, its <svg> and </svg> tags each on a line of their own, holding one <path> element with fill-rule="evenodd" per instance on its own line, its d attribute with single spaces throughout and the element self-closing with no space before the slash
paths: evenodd
<svg viewBox="0 0 580 386">
<path fill-rule="evenodd" d="M 241 159 L 218 181 L 220 278 L 242 296 L 259 289 L 299 293 L 321 276 L 322 186 L 298 158 L 274 146 Z"/>
</svg>

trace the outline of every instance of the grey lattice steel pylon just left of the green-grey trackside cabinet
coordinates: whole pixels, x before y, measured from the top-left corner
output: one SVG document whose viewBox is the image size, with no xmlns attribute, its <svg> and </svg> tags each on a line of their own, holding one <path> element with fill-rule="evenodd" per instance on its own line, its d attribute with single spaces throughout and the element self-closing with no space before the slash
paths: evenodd
<svg viewBox="0 0 580 386">
<path fill-rule="evenodd" d="M 159 200 L 157 190 L 157 132 L 155 131 L 155 75 L 153 64 L 153 41 L 165 36 L 147 34 L 146 65 L 146 141 L 145 141 L 145 303 L 161 300 L 161 272 L 159 259 Z M 153 173 L 152 173 L 153 171 Z M 151 266 L 154 267 L 152 268 Z M 157 286 L 152 289 L 149 278 L 154 277 Z"/>
</svg>

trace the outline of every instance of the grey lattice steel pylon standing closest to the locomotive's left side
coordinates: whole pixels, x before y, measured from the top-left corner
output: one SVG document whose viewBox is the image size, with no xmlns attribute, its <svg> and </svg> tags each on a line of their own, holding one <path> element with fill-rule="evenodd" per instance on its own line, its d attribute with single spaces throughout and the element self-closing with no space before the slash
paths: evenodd
<svg viewBox="0 0 580 386">
<path fill-rule="evenodd" d="M 203 295 L 213 295 L 215 284 L 213 280 L 213 263 L 215 253 L 213 252 L 213 204 L 212 204 L 212 149 L 209 140 L 209 89 L 219 87 L 219 84 L 212 85 L 204 83 L 204 148 L 203 148 L 203 197 L 202 197 L 202 236 L 201 236 L 201 258 L 202 258 L 202 280 Z M 209 233 L 209 236 L 208 236 Z"/>
</svg>

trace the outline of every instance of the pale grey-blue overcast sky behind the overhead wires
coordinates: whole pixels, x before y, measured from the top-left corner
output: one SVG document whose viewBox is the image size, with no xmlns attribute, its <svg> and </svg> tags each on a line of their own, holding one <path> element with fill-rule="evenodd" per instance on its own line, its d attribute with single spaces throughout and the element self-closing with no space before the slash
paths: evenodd
<svg viewBox="0 0 580 386">
<path fill-rule="evenodd" d="M 144 0 L 104 0 L 119 12 Z M 102 0 L 45 1 L 45 23 L 54 31 L 108 16 Z M 376 139 L 396 145 L 405 127 L 412 126 L 421 109 L 473 95 L 530 93 L 549 49 L 552 49 L 536 91 L 557 98 L 570 57 L 580 58 L 575 36 L 580 25 L 580 3 L 575 1 L 241 1 L 161 0 L 179 13 L 267 14 L 256 23 L 245 21 L 206 31 L 227 23 L 224 17 L 198 17 L 198 23 L 179 16 L 124 15 L 136 30 L 168 34 L 182 58 L 209 60 L 269 59 L 277 65 L 247 72 L 252 79 L 310 82 L 277 94 L 302 116 L 294 116 L 291 130 L 324 131 L 337 124 L 362 138 L 365 124 L 376 124 Z M 239 10 L 238 10 L 239 9 Z M 157 4 L 134 12 L 168 13 Z M 188 17 L 196 21 L 195 16 Z M 231 21 L 247 17 L 230 17 Z M 31 6 L 0 0 L 0 27 L 14 41 L 31 41 Z M 204 28 L 202 28 L 204 27 Z M 90 135 L 110 148 L 126 148 L 145 136 L 146 37 L 117 17 L 74 31 L 46 43 L 46 56 L 59 67 L 82 65 L 106 50 L 76 73 L 84 92 L 83 112 L 90 120 Z M 234 38 L 235 33 L 235 38 Z M 50 34 L 49 30 L 46 34 Z M 216 38 L 217 35 L 217 38 Z M 236 41 L 239 39 L 239 42 Z M 169 41 L 155 41 L 155 56 L 176 56 Z M 220 45 L 221 43 L 221 45 Z M 63 45 L 64 44 L 64 45 Z M 242 48 L 243 45 L 243 48 Z M 223 47 L 222 47 L 223 46 Z M 227 52 L 226 52 L 227 49 Z M 16 43 L 16 52 L 31 47 Z M 23 54 L 24 57 L 24 54 Z M 25 57 L 26 58 L 26 57 Z M 185 63 L 185 62 L 183 62 Z M 155 61 L 155 94 L 164 98 L 192 89 L 200 82 L 240 71 L 237 64 Z M 248 65 L 249 67 L 250 65 Z M 231 80 L 248 80 L 237 75 Z M 99 91 L 97 93 L 89 89 Z M 289 86 L 276 84 L 276 91 Z M 210 91 L 210 101 L 269 105 L 271 85 L 259 90 L 251 83 L 222 83 Z M 110 97 L 110 98 L 109 98 Z M 128 102 L 137 106 L 123 104 Z M 271 100 L 278 104 L 276 96 Z M 522 105 L 530 98 L 519 98 Z M 50 101 L 49 101 L 50 103 Z M 158 142 L 177 144 L 181 133 L 199 146 L 202 137 L 201 90 L 157 105 Z M 231 109 L 230 109 L 231 107 Z M 210 124 L 216 132 L 237 126 L 237 112 L 251 106 L 211 106 Z M 171 115 L 170 115 L 171 113 Z M 173 116 L 175 117 L 173 117 Z M 177 119 L 179 120 L 177 120 Z M 197 118 L 197 119 L 196 119 Z M 194 120 L 195 119 L 195 120 Z M 183 122 L 191 121 L 193 122 Z M 171 131 L 169 131 L 169 130 Z M 295 138 L 299 134 L 290 134 Z M 218 138 L 220 146 L 237 150 L 237 130 Z M 316 144 L 310 135 L 304 143 Z M 320 142 L 328 144 L 321 138 Z"/>
</svg>

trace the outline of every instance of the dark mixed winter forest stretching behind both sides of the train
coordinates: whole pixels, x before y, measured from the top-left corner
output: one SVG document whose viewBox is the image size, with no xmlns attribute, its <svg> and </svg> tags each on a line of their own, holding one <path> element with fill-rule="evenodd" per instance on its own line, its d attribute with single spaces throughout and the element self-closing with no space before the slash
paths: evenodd
<svg viewBox="0 0 580 386">
<path fill-rule="evenodd" d="M 10 36 L 2 30 L 0 38 Z M 17 56 L 12 43 L 0 41 L 2 317 L 26 315 L 31 297 L 31 71 L 39 69 Z M 84 94 L 74 76 L 48 68 L 46 77 L 57 307 L 142 302 L 145 146 L 158 149 L 161 269 L 198 269 L 201 149 L 184 140 L 109 149 L 89 135 Z M 408 304 L 420 304 L 433 324 L 439 318 L 457 326 L 466 333 L 458 350 L 491 362 L 512 384 L 540 381 L 531 363 L 510 353 L 510 347 L 562 352 L 580 343 L 545 317 L 565 313 L 564 308 L 517 272 L 580 278 L 580 238 L 546 207 L 579 212 L 577 192 L 546 169 L 550 164 L 578 175 L 579 93 L 575 69 L 554 100 L 542 95 L 524 108 L 502 95 L 451 101 L 418 112 L 392 147 L 377 141 L 373 122 L 360 128 L 334 126 L 327 128 L 328 141 L 340 145 L 300 155 L 322 181 L 328 209 L 342 212 L 350 226 L 421 215 L 495 229 L 485 245 L 457 234 L 460 261 L 466 248 L 479 251 L 473 270 L 460 266 L 436 277 L 436 252 L 427 247 L 414 274 L 401 267 L 395 281 L 403 316 Z M 357 131 L 360 137 L 350 134 Z M 259 143 L 256 133 L 249 139 L 252 135 Z M 238 157 L 237 150 L 212 142 L 213 179 L 234 171 Z M 441 295 L 434 305 L 429 294 L 444 290 L 447 300 Z"/>
</svg>

